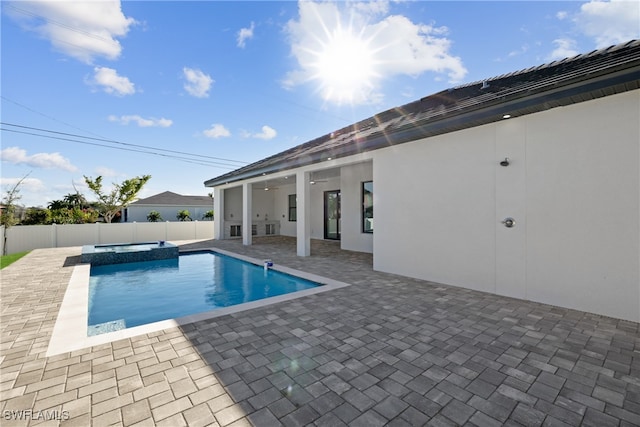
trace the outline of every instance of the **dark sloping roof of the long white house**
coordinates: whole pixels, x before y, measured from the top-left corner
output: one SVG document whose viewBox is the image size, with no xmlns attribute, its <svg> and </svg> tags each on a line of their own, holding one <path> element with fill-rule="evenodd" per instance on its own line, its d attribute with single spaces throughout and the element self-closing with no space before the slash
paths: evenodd
<svg viewBox="0 0 640 427">
<path fill-rule="evenodd" d="M 640 88 L 640 40 L 452 87 L 205 181 L 207 187 Z"/>
</svg>

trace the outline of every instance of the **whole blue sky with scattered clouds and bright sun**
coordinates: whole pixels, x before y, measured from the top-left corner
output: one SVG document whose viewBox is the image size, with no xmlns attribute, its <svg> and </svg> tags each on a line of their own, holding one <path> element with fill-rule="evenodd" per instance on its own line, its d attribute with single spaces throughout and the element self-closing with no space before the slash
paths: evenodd
<svg viewBox="0 0 640 427">
<path fill-rule="evenodd" d="M 456 85 L 640 38 L 637 1 L 3 1 L 2 189 L 207 179 Z"/>
</svg>

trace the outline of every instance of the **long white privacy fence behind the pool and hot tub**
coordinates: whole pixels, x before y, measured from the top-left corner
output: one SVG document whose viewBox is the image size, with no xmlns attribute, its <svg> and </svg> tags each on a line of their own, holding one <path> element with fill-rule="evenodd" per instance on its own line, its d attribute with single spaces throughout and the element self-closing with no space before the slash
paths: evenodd
<svg viewBox="0 0 640 427">
<path fill-rule="evenodd" d="M 7 254 L 105 243 L 213 239 L 213 221 L 19 225 L 1 227 L 0 237 Z"/>
</svg>

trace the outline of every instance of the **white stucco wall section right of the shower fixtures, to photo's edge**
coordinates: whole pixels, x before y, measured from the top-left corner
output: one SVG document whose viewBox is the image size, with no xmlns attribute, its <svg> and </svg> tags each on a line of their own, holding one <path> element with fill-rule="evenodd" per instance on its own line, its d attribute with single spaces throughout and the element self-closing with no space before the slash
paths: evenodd
<svg viewBox="0 0 640 427">
<path fill-rule="evenodd" d="M 640 321 L 640 91 L 527 123 L 527 292 Z"/>
</svg>

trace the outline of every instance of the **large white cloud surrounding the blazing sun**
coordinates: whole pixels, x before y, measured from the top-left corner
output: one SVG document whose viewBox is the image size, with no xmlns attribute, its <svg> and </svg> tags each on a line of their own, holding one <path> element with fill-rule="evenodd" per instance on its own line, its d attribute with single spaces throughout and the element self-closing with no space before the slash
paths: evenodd
<svg viewBox="0 0 640 427">
<path fill-rule="evenodd" d="M 450 53 L 446 27 L 385 16 L 388 2 L 301 1 L 298 7 L 286 31 L 299 68 L 286 74 L 285 88 L 317 82 L 325 101 L 357 104 L 380 100 L 382 81 L 396 75 L 431 71 L 458 82 L 467 73 Z"/>
</svg>

